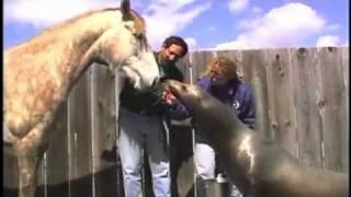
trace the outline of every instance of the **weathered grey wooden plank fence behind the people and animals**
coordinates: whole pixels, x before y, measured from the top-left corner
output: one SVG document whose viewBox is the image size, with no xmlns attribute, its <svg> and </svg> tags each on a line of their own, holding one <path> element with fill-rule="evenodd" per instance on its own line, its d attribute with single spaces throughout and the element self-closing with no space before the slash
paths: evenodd
<svg viewBox="0 0 351 197">
<path fill-rule="evenodd" d="M 239 73 L 254 92 L 258 131 L 307 165 L 349 172 L 349 47 L 194 51 L 181 61 L 186 82 L 195 82 L 217 56 L 240 62 Z M 36 196 L 123 196 L 121 163 L 111 151 L 114 89 L 113 74 L 102 66 L 79 80 L 39 166 Z M 171 130 L 172 196 L 183 196 L 193 183 L 191 131 Z M 3 159 L 4 196 L 16 196 L 16 161 L 8 153 Z"/>
</svg>

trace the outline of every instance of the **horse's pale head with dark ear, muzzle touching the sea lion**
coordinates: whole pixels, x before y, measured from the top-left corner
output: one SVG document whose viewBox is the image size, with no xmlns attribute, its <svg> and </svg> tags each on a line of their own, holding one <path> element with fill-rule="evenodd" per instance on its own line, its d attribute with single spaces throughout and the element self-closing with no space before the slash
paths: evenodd
<svg viewBox="0 0 351 197">
<path fill-rule="evenodd" d="M 151 86 L 159 78 L 159 70 L 146 38 L 145 22 L 131 9 L 128 0 L 122 1 L 121 13 L 123 25 L 118 30 L 118 46 L 123 49 L 123 58 L 118 69 L 135 89 Z"/>
</svg>

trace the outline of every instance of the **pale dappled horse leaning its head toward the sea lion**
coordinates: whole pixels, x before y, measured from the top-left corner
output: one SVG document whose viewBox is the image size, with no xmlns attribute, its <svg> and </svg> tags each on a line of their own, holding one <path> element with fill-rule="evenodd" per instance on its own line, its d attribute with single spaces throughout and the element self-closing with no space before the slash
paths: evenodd
<svg viewBox="0 0 351 197">
<path fill-rule="evenodd" d="M 158 81 L 145 28 L 131 2 L 122 0 L 120 8 L 88 11 L 4 51 L 3 141 L 18 159 L 20 197 L 35 196 L 53 119 L 93 62 L 117 71 L 137 90 Z"/>
</svg>

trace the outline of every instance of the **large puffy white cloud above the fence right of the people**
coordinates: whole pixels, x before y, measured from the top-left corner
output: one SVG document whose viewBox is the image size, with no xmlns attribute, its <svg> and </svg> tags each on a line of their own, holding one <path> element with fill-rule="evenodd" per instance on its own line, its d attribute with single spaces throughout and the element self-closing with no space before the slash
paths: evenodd
<svg viewBox="0 0 351 197">
<path fill-rule="evenodd" d="M 239 28 L 244 33 L 235 40 L 218 44 L 215 49 L 296 47 L 325 26 L 326 21 L 310 7 L 288 3 L 264 15 L 241 21 Z"/>
</svg>

